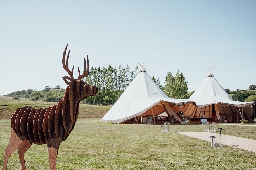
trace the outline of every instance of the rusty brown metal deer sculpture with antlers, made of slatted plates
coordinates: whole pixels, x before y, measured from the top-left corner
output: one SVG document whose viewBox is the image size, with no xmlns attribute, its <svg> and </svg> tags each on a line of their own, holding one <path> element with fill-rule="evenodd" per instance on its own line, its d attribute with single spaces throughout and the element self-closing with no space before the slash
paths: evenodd
<svg viewBox="0 0 256 170">
<path fill-rule="evenodd" d="M 79 103 L 84 98 L 96 95 L 98 88 L 90 86 L 81 79 L 86 77 L 89 72 L 89 60 L 84 58 L 84 74 L 77 79 L 73 77 L 72 71 L 68 68 L 69 53 L 66 58 L 66 50 L 63 53 L 63 68 L 68 72 L 69 77 L 63 77 L 68 85 L 65 91 L 64 99 L 61 99 L 57 105 L 45 109 L 33 109 L 25 106 L 18 108 L 11 118 L 11 139 L 5 149 L 4 170 L 7 168 L 7 162 L 10 155 L 18 149 L 20 164 L 22 169 L 26 169 L 24 153 L 34 144 L 46 144 L 49 152 L 50 169 L 56 169 L 56 157 L 58 148 L 62 141 L 66 140 L 73 130 L 79 113 Z"/>
</svg>

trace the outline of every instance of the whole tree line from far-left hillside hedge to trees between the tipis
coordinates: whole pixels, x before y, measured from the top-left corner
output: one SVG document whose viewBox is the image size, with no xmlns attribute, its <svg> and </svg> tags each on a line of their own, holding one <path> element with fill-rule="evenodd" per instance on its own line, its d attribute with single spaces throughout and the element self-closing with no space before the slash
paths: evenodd
<svg viewBox="0 0 256 170">
<path fill-rule="evenodd" d="M 113 68 L 111 65 L 103 68 L 91 67 L 89 74 L 86 78 L 83 78 L 87 84 L 95 85 L 99 91 L 95 96 L 81 101 L 82 104 L 91 105 L 113 105 L 121 96 L 127 86 L 133 81 L 139 71 L 138 66 L 135 69 L 130 70 L 127 65 L 123 67 L 119 65 L 118 68 Z M 164 86 L 161 85 L 160 79 L 152 77 L 152 80 L 163 90 L 163 92 L 171 98 L 189 98 L 191 94 L 188 94 L 188 82 L 185 81 L 185 77 L 179 70 L 176 75 L 172 72 L 168 72 L 165 77 Z M 18 94 L 18 95 L 17 95 Z M 27 91 L 22 90 L 13 92 L 7 96 L 19 96 L 25 97 L 30 100 L 44 100 L 49 102 L 58 102 L 64 97 L 65 90 L 57 85 L 54 91 L 49 86 L 46 86 L 44 90 L 37 91 L 29 89 Z"/>
</svg>

